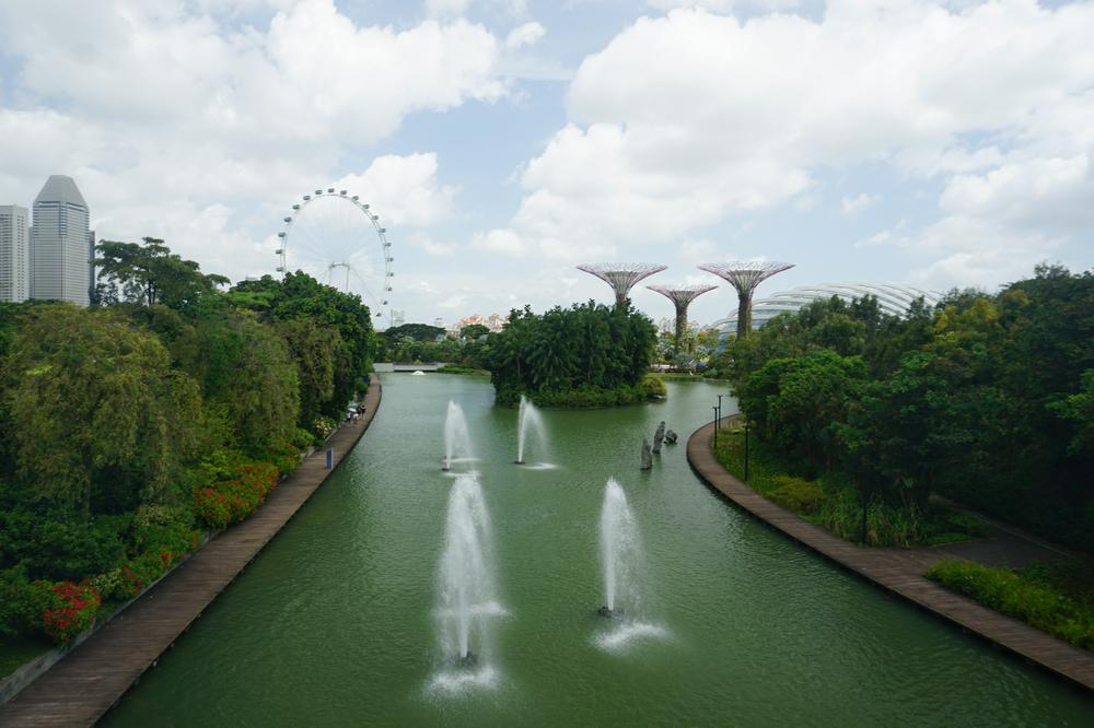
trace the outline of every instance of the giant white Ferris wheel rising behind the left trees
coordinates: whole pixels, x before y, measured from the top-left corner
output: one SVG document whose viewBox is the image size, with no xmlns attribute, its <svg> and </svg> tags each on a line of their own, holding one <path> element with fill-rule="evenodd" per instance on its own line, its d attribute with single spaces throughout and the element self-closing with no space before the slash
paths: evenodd
<svg viewBox="0 0 1094 728">
<path fill-rule="evenodd" d="M 344 189 L 317 189 L 293 204 L 282 222 L 276 250 L 282 278 L 302 270 L 360 295 L 375 316 L 386 315 L 395 258 L 387 228 L 368 202 Z"/>
</svg>

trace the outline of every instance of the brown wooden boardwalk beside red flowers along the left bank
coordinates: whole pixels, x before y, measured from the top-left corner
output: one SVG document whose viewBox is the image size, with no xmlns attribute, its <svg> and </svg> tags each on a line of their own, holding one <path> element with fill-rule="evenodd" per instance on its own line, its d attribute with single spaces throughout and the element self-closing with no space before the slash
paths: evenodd
<svg viewBox="0 0 1094 728">
<path fill-rule="evenodd" d="M 362 420 L 344 424 L 246 520 L 209 541 L 71 654 L 0 705 L 0 726 L 91 726 L 98 720 L 147 669 L 155 666 L 160 655 L 330 474 L 326 448 L 334 449 L 337 467 L 357 445 L 380 406 L 380 383 L 375 375 L 372 379 Z"/>
</svg>

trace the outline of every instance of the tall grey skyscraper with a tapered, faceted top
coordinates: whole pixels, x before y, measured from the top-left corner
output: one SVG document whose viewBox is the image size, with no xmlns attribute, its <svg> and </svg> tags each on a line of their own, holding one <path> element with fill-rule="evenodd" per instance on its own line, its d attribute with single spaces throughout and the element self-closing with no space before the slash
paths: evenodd
<svg viewBox="0 0 1094 728">
<path fill-rule="evenodd" d="M 34 198 L 31 228 L 31 297 L 91 302 L 90 230 L 88 203 L 71 177 L 50 175 Z"/>
</svg>

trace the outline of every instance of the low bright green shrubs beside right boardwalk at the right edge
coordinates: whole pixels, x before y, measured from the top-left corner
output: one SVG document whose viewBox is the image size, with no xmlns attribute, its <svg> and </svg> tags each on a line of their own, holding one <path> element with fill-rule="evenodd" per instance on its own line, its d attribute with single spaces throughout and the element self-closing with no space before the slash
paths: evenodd
<svg viewBox="0 0 1094 728">
<path fill-rule="evenodd" d="M 1089 580 L 1090 564 L 1085 564 Z M 927 577 L 954 591 L 1022 620 L 1066 642 L 1094 650 L 1094 600 L 1089 592 L 1054 579 L 1059 567 L 1033 566 L 1017 572 L 965 561 L 940 561 Z"/>
</svg>

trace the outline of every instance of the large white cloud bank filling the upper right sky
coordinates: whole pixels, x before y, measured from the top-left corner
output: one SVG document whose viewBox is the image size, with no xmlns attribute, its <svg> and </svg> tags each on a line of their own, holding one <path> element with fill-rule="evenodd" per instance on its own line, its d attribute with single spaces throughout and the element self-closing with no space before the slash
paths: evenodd
<svg viewBox="0 0 1094 728">
<path fill-rule="evenodd" d="M 687 8 L 586 57 L 570 122 L 525 166 L 509 227 L 525 248 L 589 258 L 754 210 L 807 210 L 821 175 L 862 163 L 942 176 L 932 239 L 951 247 L 939 259 L 964 250 L 946 230 L 975 227 L 984 250 L 1023 257 L 1058 238 L 1015 225 L 1090 219 L 1092 3 L 834 0 L 818 21 L 746 23 L 702 9 L 729 2 L 652 4 Z"/>
</svg>

